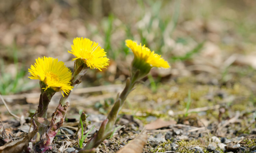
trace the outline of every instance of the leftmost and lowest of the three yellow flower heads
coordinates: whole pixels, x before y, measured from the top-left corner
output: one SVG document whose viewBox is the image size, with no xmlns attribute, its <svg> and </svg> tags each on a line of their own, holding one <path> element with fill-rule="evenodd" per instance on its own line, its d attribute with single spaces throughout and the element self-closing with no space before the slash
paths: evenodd
<svg viewBox="0 0 256 153">
<path fill-rule="evenodd" d="M 58 59 L 45 56 L 38 58 L 36 63 L 30 66 L 29 73 L 30 79 L 39 79 L 46 84 L 46 88 L 42 89 L 52 88 L 56 92 L 63 91 L 68 94 L 73 88 L 70 82 L 72 72 Z"/>
</svg>

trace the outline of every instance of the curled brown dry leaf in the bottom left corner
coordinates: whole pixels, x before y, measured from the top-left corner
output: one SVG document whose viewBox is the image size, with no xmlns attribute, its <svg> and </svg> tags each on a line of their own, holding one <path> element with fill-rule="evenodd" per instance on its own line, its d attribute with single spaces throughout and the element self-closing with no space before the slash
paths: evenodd
<svg viewBox="0 0 256 153">
<path fill-rule="evenodd" d="M 0 153 L 8 153 L 8 152 L 22 152 L 27 145 L 29 144 L 30 140 L 34 137 L 38 129 L 35 131 L 32 131 L 31 133 L 28 133 L 23 138 L 13 141 L 10 144 L 5 144 L 0 147 Z"/>
</svg>

